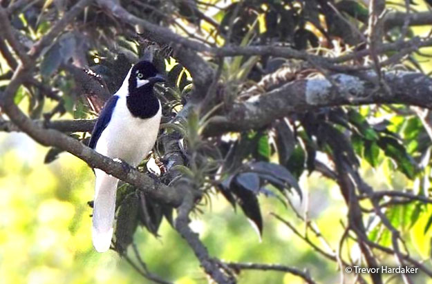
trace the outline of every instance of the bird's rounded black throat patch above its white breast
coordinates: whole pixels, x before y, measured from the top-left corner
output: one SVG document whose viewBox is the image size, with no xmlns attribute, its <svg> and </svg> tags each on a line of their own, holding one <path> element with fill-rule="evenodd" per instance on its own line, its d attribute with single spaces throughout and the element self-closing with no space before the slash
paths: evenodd
<svg viewBox="0 0 432 284">
<path fill-rule="evenodd" d="M 151 84 L 143 85 L 141 88 L 130 88 L 126 105 L 131 114 L 140 119 L 155 116 L 160 108 L 159 99 L 154 94 Z"/>
</svg>

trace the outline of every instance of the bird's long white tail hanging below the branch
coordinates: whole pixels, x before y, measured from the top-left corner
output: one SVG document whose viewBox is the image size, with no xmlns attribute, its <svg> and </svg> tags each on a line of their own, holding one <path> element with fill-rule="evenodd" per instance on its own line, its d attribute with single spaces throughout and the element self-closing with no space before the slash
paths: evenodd
<svg viewBox="0 0 432 284">
<path fill-rule="evenodd" d="M 118 179 L 95 169 L 95 201 L 93 205 L 93 246 L 97 252 L 106 252 L 113 237 L 115 194 Z"/>
</svg>

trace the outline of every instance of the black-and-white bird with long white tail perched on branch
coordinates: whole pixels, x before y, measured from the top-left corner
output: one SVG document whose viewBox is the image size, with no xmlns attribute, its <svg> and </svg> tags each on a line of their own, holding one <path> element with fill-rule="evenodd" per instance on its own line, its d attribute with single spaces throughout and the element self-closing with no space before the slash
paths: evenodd
<svg viewBox="0 0 432 284">
<path fill-rule="evenodd" d="M 106 101 L 93 129 L 90 148 L 96 152 L 138 165 L 149 154 L 158 136 L 162 114 L 155 83 L 165 81 L 150 61 L 133 65 L 120 89 Z M 106 252 L 111 245 L 118 179 L 95 169 L 93 246 Z"/>
</svg>

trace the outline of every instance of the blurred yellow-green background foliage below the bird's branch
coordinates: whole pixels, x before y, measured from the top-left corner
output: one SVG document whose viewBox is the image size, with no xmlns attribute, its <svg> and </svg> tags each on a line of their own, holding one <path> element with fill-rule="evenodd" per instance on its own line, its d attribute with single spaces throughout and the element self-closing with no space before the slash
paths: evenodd
<svg viewBox="0 0 432 284">
<path fill-rule="evenodd" d="M 62 283 L 136 283 L 139 276 L 115 252 L 97 254 L 93 250 L 91 207 L 86 204 L 93 199 L 93 173 L 88 166 L 69 154 L 40 166 L 46 149 L 24 134 L 0 134 L 0 146 L 0 283 L 48 284 L 59 279 Z M 318 181 L 317 176 L 314 181 Z M 337 189 L 331 183 L 315 188 L 312 202 L 326 201 L 326 205 L 313 214 L 320 216 L 322 225 L 332 223 L 332 214 L 343 203 L 338 196 L 328 196 L 328 191 Z M 263 210 L 287 213 L 281 203 L 266 199 Z M 264 219 L 270 221 L 270 216 L 265 214 Z M 330 263 L 317 258 L 281 223 L 269 222 L 259 242 L 243 217 L 233 214 L 221 199 L 212 202 L 211 210 L 196 216 L 191 226 L 200 232 L 210 253 L 220 258 L 290 263 L 308 267 L 330 282 L 337 278 Z M 196 258 L 169 223 L 162 223 L 159 234 L 158 239 L 142 229 L 135 234 L 149 269 L 176 283 L 207 283 Z M 333 241 L 337 241 L 337 234 Z M 242 274 L 241 282 L 253 283 L 256 275 Z M 279 272 L 259 277 L 271 283 L 284 278 Z M 285 278 L 285 283 L 296 279 Z"/>
</svg>

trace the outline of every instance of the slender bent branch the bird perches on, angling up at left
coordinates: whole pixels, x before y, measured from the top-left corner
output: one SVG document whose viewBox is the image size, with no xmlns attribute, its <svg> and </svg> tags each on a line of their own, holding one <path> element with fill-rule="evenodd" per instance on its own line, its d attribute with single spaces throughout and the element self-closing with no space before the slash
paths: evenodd
<svg viewBox="0 0 432 284">
<path fill-rule="evenodd" d="M 48 35 L 39 41 L 38 45 L 30 54 L 33 56 L 39 54 L 44 45 L 48 43 L 48 40 L 54 39 L 57 33 L 60 32 L 68 22 L 73 21 L 79 11 L 85 7 L 86 3 L 90 3 L 90 0 L 81 0 L 75 4 L 75 6 L 66 14 L 64 19 L 60 20 L 55 27 L 48 32 Z M 170 187 L 161 183 L 155 183 L 153 179 L 141 172 L 138 172 L 135 168 L 132 168 L 125 163 L 114 161 L 106 156 L 102 156 L 93 149 L 88 148 L 86 145 L 83 145 L 79 141 L 58 132 L 57 130 L 42 128 L 41 125 L 37 125 L 37 123 L 34 123 L 28 118 L 28 116 L 21 112 L 17 105 L 15 105 L 13 97 L 17 92 L 19 85 L 21 85 L 26 78 L 28 70 L 34 64 L 35 59 L 33 58 L 30 59 L 26 66 L 19 63 L 6 90 L 0 93 L 0 106 L 13 124 L 15 124 L 21 131 L 26 132 L 26 134 L 41 145 L 53 146 L 70 152 L 79 159 L 86 161 L 86 163 L 91 165 L 93 168 L 104 170 L 106 173 L 144 190 L 144 192 L 149 194 L 149 196 L 161 203 L 173 205 L 175 207 L 182 203 L 182 196 L 178 194 L 176 190 L 172 190 Z"/>
</svg>

